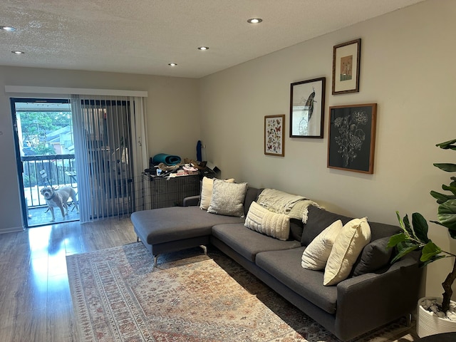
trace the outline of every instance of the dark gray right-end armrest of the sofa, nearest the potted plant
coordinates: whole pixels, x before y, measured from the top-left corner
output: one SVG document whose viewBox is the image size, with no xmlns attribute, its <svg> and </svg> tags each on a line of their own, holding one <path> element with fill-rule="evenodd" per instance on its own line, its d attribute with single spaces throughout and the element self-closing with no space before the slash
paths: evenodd
<svg viewBox="0 0 456 342">
<path fill-rule="evenodd" d="M 412 313 L 420 296 L 423 269 L 408 254 L 381 274 L 368 273 L 337 285 L 336 331 L 352 338 Z"/>
</svg>

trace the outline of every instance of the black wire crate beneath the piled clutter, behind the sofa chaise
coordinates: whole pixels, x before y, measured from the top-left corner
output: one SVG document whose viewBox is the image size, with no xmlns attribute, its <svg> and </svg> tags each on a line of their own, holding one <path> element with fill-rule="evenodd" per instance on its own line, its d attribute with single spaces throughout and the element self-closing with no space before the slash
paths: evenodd
<svg viewBox="0 0 456 342">
<path fill-rule="evenodd" d="M 199 175 L 159 177 L 142 175 L 144 209 L 182 206 L 183 199 L 199 195 Z"/>
</svg>

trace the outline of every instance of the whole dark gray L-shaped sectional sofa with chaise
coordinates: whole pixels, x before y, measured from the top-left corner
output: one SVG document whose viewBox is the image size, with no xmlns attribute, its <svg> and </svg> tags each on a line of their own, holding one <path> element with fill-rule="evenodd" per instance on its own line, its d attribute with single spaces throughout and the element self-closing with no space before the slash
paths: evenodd
<svg viewBox="0 0 456 342">
<path fill-rule="evenodd" d="M 247 189 L 247 215 L 261 190 Z M 368 222 L 371 242 L 364 247 L 348 279 L 323 286 L 323 271 L 304 269 L 304 249 L 332 222 L 350 217 L 318 207 L 308 208 L 307 222 L 290 219 L 289 239 L 282 241 L 244 226 L 244 217 L 211 214 L 199 209 L 198 198 L 185 199 L 186 207 L 134 212 L 138 239 L 155 257 L 159 254 L 212 244 L 244 266 L 271 289 L 305 314 L 349 341 L 401 316 L 409 317 L 419 298 L 421 269 L 418 256 L 409 254 L 390 264 L 388 238 L 399 231 L 389 224 Z"/>
</svg>

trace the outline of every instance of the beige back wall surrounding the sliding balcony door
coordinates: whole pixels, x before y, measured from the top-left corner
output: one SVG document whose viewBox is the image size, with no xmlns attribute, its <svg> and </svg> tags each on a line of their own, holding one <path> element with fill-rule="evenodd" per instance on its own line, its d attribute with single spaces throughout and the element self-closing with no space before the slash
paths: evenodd
<svg viewBox="0 0 456 342">
<path fill-rule="evenodd" d="M 201 136 L 196 79 L 0 66 L 0 232 L 23 226 L 9 97 L 25 96 L 7 94 L 4 86 L 145 90 L 149 155 L 196 158 Z"/>
</svg>

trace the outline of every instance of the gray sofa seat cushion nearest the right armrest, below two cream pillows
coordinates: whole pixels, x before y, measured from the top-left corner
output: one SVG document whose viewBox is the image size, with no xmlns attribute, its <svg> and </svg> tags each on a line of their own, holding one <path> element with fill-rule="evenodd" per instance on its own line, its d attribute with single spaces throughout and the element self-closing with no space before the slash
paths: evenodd
<svg viewBox="0 0 456 342">
<path fill-rule="evenodd" d="M 337 286 L 323 286 L 323 272 L 303 269 L 304 247 L 257 254 L 256 264 L 296 294 L 329 314 L 336 313 Z"/>
</svg>

